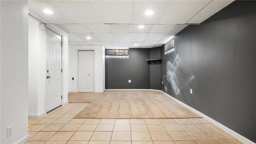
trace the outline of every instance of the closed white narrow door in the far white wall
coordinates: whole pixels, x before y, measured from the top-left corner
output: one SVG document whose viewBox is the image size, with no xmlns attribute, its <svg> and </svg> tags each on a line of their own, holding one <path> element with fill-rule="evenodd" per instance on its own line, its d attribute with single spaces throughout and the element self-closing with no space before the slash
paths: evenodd
<svg viewBox="0 0 256 144">
<path fill-rule="evenodd" d="M 78 51 L 78 92 L 94 92 L 94 51 Z"/>
</svg>

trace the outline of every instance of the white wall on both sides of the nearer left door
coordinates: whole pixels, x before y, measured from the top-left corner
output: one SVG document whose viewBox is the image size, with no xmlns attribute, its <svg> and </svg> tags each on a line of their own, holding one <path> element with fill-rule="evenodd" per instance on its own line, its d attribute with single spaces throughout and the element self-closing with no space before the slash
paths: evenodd
<svg viewBox="0 0 256 144">
<path fill-rule="evenodd" d="M 28 116 L 40 118 L 45 110 L 46 80 L 46 31 L 40 28 L 42 22 L 28 18 Z M 68 103 L 68 34 L 55 25 L 46 25 L 49 29 L 63 36 L 62 47 L 62 104 Z"/>
</svg>

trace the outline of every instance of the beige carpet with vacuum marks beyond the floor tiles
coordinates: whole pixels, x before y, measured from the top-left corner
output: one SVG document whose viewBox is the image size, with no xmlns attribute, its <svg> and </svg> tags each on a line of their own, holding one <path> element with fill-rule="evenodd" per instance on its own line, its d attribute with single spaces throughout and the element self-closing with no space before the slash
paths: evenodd
<svg viewBox="0 0 256 144">
<path fill-rule="evenodd" d="M 70 103 L 90 103 L 74 118 L 201 118 L 161 92 L 70 93 Z"/>
</svg>

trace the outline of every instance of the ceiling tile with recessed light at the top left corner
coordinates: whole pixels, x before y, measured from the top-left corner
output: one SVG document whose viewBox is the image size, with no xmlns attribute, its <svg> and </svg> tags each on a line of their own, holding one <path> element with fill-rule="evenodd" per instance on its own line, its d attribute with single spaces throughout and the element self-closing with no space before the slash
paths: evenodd
<svg viewBox="0 0 256 144">
<path fill-rule="evenodd" d="M 29 9 L 51 24 L 76 24 L 76 22 L 53 0 L 29 0 Z M 43 10 L 49 9 L 53 14 L 46 14 Z"/>
</svg>

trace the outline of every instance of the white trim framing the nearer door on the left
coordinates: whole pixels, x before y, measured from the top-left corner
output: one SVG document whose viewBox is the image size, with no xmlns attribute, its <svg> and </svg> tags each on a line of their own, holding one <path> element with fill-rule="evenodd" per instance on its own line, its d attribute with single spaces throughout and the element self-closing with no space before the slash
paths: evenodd
<svg viewBox="0 0 256 144">
<path fill-rule="evenodd" d="M 63 78 L 63 64 L 64 64 L 64 62 L 63 62 L 63 56 L 64 56 L 64 54 L 63 54 L 63 42 L 64 42 L 64 34 L 62 34 L 61 32 L 58 32 L 57 30 L 55 30 L 54 28 L 52 28 L 51 26 L 48 26 L 48 25 L 46 25 L 46 29 L 49 29 L 52 32 L 55 32 L 56 34 L 61 36 L 61 41 L 62 41 L 62 43 L 61 43 L 61 70 L 62 70 L 62 72 L 61 72 L 61 96 L 62 96 L 61 104 L 63 106 L 64 105 L 64 101 L 63 101 L 63 79 L 64 79 Z M 45 36 L 46 36 L 46 32 L 45 32 Z M 45 42 L 46 42 L 46 40 L 47 39 L 45 39 Z M 46 43 L 45 43 L 45 60 L 44 60 L 44 62 L 45 62 L 44 67 L 45 67 L 45 70 L 46 70 Z M 47 72 L 45 71 L 45 78 L 46 78 L 46 76 L 47 76 Z M 45 92 L 46 92 L 46 86 L 45 86 Z M 47 112 L 47 110 L 46 110 L 46 95 L 44 97 L 45 97 L 44 110 L 45 110 L 45 113 L 46 113 Z"/>
</svg>

